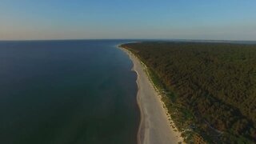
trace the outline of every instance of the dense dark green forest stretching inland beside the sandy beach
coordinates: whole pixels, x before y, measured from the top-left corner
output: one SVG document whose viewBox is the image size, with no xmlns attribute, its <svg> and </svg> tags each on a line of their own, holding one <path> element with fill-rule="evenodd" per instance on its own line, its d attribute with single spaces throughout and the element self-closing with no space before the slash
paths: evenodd
<svg viewBox="0 0 256 144">
<path fill-rule="evenodd" d="M 256 45 L 124 44 L 150 77 L 186 142 L 256 142 Z"/>
</svg>

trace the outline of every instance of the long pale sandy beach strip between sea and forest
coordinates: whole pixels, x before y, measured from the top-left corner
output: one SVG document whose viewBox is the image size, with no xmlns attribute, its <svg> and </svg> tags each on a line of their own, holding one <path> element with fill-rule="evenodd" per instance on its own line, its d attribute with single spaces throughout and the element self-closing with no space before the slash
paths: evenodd
<svg viewBox="0 0 256 144">
<path fill-rule="evenodd" d="M 134 63 L 133 70 L 137 73 L 138 106 L 141 110 L 141 122 L 138 130 L 138 144 L 172 144 L 182 142 L 181 134 L 170 126 L 170 115 L 167 114 L 161 96 L 154 89 L 146 74 L 146 66 L 122 48 Z"/>
</svg>

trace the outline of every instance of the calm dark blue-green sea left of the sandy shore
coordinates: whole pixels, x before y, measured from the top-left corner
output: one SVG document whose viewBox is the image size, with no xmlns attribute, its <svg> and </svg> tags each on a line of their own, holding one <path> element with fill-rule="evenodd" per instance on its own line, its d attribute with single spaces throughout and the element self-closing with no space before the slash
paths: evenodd
<svg viewBox="0 0 256 144">
<path fill-rule="evenodd" d="M 123 42 L 0 42 L 0 143 L 136 143 L 136 74 Z"/>
</svg>

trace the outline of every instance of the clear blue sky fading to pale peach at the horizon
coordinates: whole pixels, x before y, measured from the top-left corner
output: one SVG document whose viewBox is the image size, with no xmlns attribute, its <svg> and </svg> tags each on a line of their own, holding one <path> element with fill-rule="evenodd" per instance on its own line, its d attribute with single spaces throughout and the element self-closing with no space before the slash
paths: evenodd
<svg viewBox="0 0 256 144">
<path fill-rule="evenodd" d="M 1 0 L 0 40 L 256 40 L 255 0 Z"/>
</svg>

